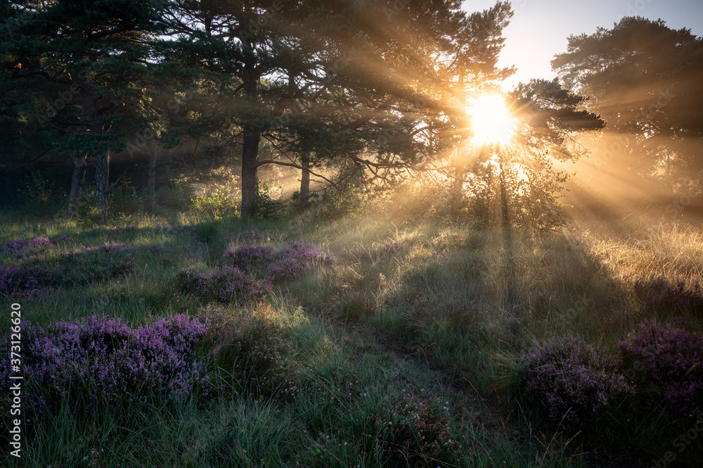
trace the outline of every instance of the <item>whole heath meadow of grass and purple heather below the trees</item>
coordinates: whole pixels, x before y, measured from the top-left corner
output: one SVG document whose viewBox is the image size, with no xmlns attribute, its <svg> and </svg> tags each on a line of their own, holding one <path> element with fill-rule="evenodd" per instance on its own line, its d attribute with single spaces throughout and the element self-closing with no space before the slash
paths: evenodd
<svg viewBox="0 0 703 468">
<path fill-rule="evenodd" d="M 695 467 L 703 231 L 0 220 L 7 467 Z M 11 427 L 0 364 L 3 439 Z M 7 447 L 7 443 L 3 443 Z"/>
</svg>

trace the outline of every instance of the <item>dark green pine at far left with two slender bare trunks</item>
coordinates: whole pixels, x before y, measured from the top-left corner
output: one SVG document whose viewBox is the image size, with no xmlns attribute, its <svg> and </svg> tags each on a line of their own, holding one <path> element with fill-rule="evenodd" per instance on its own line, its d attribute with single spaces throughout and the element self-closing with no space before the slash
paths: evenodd
<svg viewBox="0 0 703 468">
<path fill-rule="evenodd" d="M 35 115 L 65 137 L 56 148 L 72 153 L 72 203 L 80 196 L 86 160 L 96 166 L 96 208 L 108 216 L 110 153 L 124 148 L 120 112 L 141 94 L 150 34 L 159 29 L 159 0 L 11 1 L 0 54 L 9 58 L 4 81 L 44 87 L 53 103 Z M 26 86 L 26 84 L 25 84 Z M 60 103 L 57 105 L 56 103 Z"/>
</svg>

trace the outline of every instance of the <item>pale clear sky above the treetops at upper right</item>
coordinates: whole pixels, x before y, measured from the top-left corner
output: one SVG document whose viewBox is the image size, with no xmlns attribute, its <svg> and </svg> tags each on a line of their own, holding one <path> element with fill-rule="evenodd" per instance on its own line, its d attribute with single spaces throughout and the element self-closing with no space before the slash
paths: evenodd
<svg viewBox="0 0 703 468">
<path fill-rule="evenodd" d="M 495 0 L 466 0 L 467 11 L 482 11 Z M 498 65 L 515 65 L 517 72 L 505 89 L 530 78 L 552 79 L 550 61 L 567 50 L 571 34 L 593 34 L 599 27 L 612 29 L 624 16 L 661 18 L 673 29 L 685 27 L 703 36 L 702 0 L 512 0 L 515 15 L 504 30 L 505 47 Z"/>
</svg>

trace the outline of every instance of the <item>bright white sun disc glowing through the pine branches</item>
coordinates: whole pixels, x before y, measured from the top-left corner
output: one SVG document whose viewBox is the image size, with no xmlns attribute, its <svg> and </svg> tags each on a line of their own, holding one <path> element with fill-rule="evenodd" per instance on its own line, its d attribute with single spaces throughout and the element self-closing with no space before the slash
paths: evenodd
<svg viewBox="0 0 703 468">
<path fill-rule="evenodd" d="M 510 115 L 505 100 L 498 94 L 479 96 L 469 107 L 476 144 L 505 144 L 515 136 L 517 120 Z"/>
</svg>

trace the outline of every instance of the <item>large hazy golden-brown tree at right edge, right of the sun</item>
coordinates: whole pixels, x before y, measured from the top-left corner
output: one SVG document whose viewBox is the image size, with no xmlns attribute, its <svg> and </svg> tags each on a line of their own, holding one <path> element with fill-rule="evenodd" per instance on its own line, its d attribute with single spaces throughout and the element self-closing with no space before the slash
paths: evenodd
<svg viewBox="0 0 703 468">
<path fill-rule="evenodd" d="M 600 164 L 669 178 L 703 170 L 703 41 L 662 20 L 623 18 L 612 29 L 569 37 L 552 67 L 567 89 L 607 121 Z"/>
</svg>

